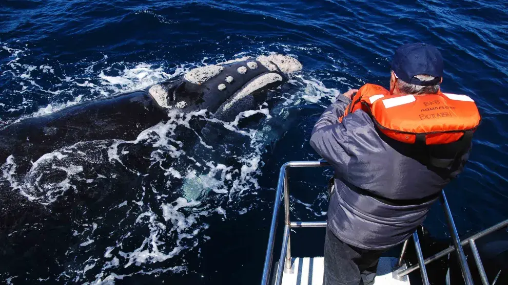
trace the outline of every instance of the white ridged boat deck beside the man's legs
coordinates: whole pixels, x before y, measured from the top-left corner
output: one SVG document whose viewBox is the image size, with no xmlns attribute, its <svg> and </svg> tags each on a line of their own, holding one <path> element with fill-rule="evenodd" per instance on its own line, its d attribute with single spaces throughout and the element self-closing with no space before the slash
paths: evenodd
<svg viewBox="0 0 508 285">
<path fill-rule="evenodd" d="M 323 257 L 292 258 L 291 272 L 282 274 L 282 285 L 322 285 Z M 402 280 L 394 278 L 397 258 L 381 257 L 374 285 L 410 285 L 407 276 Z"/>
</svg>

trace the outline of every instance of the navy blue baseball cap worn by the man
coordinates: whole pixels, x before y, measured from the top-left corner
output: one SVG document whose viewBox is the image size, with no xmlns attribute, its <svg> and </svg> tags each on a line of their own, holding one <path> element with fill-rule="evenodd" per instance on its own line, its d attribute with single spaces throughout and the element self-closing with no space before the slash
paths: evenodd
<svg viewBox="0 0 508 285">
<path fill-rule="evenodd" d="M 436 85 L 443 77 L 443 57 L 432 45 L 409 43 L 395 51 L 392 70 L 402 81 L 422 86 Z M 432 81 L 420 81 L 415 75 L 426 74 L 436 77 Z"/>
</svg>

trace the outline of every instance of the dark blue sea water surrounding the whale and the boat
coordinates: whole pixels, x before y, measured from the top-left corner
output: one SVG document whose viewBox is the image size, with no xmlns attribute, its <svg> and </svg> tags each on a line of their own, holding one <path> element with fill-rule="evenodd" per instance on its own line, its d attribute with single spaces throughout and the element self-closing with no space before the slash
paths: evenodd
<svg viewBox="0 0 508 285">
<path fill-rule="evenodd" d="M 506 4 L 1 2 L 2 126 L 244 55 L 288 54 L 304 69 L 280 91 L 284 103 L 271 117 L 248 127 L 218 124 L 235 139 L 216 150 L 182 152 L 170 140 L 182 123 L 176 121 L 134 142 L 72 146 L 61 150 L 64 156 L 38 161 L 28 174 L 4 164 L 0 191 L 18 198 L 1 209 L 0 280 L 258 283 L 279 167 L 318 159 L 308 139 L 324 107 L 366 82 L 387 86 L 394 49 L 415 41 L 441 50 L 442 89 L 470 95 L 483 116 L 471 160 L 447 188 L 459 234 L 508 218 Z M 230 152 L 218 154 L 223 150 Z M 189 202 L 181 188 L 193 174 L 210 192 Z M 295 218 L 324 220 L 327 175 L 292 173 Z M 436 239 L 448 236 L 439 205 L 425 226 Z M 306 245 L 295 247 L 297 255 L 322 254 L 322 231 L 294 236 L 295 244 Z"/>
</svg>

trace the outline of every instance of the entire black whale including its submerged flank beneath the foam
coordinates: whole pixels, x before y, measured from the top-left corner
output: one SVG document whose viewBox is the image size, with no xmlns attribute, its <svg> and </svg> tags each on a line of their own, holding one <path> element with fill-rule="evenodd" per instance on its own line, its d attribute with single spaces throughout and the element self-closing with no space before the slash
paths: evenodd
<svg viewBox="0 0 508 285">
<path fill-rule="evenodd" d="M 27 266 L 46 260 L 51 269 L 43 278 L 76 282 L 76 276 L 86 271 L 77 268 L 86 266 L 90 254 L 95 255 L 89 252 L 91 248 L 103 256 L 103 245 L 114 246 L 114 240 L 122 240 L 125 252 L 144 244 L 145 234 L 160 235 L 164 246 L 161 243 L 159 249 L 164 253 L 176 246 L 192 247 L 194 239 L 181 236 L 202 231 L 207 224 L 195 222 L 189 226 L 191 232 L 180 234 L 180 229 L 171 229 L 180 222 L 166 220 L 172 215 L 167 211 L 181 212 L 188 217 L 185 223 L 192 223 L 205 215 L 202 209 L 222 210 L 219 201 L 229 193 L 211 195 L 215 192 L 207 179 L 216 176 L 228 189 L 237 182 L 244 183 L 242 187 L 256 184 L 250 174 L 242 177 L 244 162 L 235 156 L 246 154 L 250 159 L 255 155 L 261 160 L 264 146 L 282 138 L 291 122 L 301 118 L 290 113 L 299 108 L 288 111 L 278 104 L 284 100 L 279 94 L 295 87 L 283 84 L 301 69 L 297 59 L 284 55 L 241 58 L 4 127 L 0 130 L 0 252 L 10 262 L 4 262 L 1 271 L 22 276 Z M 278 115 L 269 118 L 266 114 Z M 235 125 L 238 118 L 240 123 Z M 226 125 L 238 127 L 231 131 Z M 245 148 L 251 141 L 264 146 Z M 252 152 L 258 149 L 259 154 Z M 208 162 L 213 169 L 224 165 L 231 170 L 214 172 Z M 221 178 L 227 174 L 231 180 Z M 231 193 L 241 195 L 240 190 Z M 189 207 L 172 208 L 184 200 Z M 203 206 L 194 209 L 192 205 L 198 203 Z M 155 233 L 159 230 L 150 226 L 148 212 L 150 221 L 154 218 L 157 227 L 167 226 L 167 230 Z M 82 228 L 88 226 L 93 237 L 82 240 L 88 234 Z M 95 242 L 90 244 L 92 239 Z M 168 262 L 174 262 L 173 258 Z M 64 277 L 52 275 L 62 271 Z M 39 277 L 34 275 L 27 278 Z"/>
</svg>

